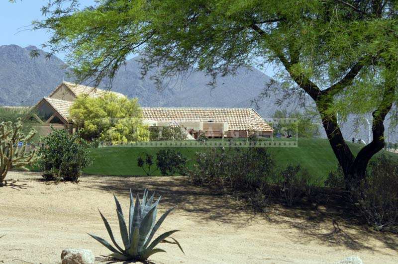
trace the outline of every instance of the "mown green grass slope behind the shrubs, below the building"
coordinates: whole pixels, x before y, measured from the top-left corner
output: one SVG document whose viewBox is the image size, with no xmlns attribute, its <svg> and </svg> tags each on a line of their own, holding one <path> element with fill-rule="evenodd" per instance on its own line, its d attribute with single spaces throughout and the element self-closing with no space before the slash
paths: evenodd
<svg viewBox="0 0 398 264">
<path fill-rule="evenodd" d="M 349 146 L 357 154 L 363 145 L 349 143 Z M 84 172 L 87 174 L 117 176 L 143 175 L 141 168 L 137 167 L 137 157 L 145 152 L 156 157 L 156 152 L 160 149 L 129 147 L 93 149 L 94 163 Z M 181 151 L 188 158 L 193 158 L 198 151 L 205 151 L 204 148 L 176 148 L 176 150 Z M 288 164 L 301 164 L 314 178 L 324 178 L 330 170 L 337 167 L 337 159 L 330 148 L 329 142 L 325 139 L 300 139 L 298 147 L 269 148 L 269 152 L 275 158 L 279 168 L 283 168 Z M 398 155 L 394 156 L 398 157 Z M 156 172 L 155 175 L 160 174 Z"/>
</svg>

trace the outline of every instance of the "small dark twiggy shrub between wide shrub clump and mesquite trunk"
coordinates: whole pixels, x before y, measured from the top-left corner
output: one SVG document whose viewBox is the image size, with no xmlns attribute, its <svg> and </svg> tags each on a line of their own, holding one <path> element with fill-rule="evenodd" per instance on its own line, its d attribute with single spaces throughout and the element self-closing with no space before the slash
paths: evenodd
<svg viewBox="0 0 398 264">
<path fill-rule="evenodd" d="M 300 165 L 288 165 L 279 179 L 280 194 L 288 206 L 292 206 L 305 194 L 310 194 L 310 175 Z"/>
</svg>

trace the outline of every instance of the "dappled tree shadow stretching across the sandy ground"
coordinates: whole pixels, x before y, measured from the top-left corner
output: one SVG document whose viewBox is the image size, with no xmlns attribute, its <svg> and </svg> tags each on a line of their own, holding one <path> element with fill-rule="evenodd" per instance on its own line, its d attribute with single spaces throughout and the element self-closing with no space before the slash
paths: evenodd
<svg viewBox="0 0 398 264">
<path fill-rule="evenodd" d="M 372 238 L 389 249 L 398 250 L 396 236 L 371 230 L 366 222 L 359 220 L 362 219 L 360 212 L 343 190 L 320 188 L 311 199 L 298 206 L 285 207 L 274 203 L 265 213 L 259 213 L 247 206 L 241 197 L 192 185 L 183 176 L 83 176 L 82 183 L 87 188 L 111 192 L 124 198 L 129 197 L 129 188 L 134 195 L 142 195 L 144 189 L 155 191 L 155 196 L 162 195 L 162 208 L 178 204 L 180 213 L 196 222 L 215 221 L 237 228 L 259 219 L 271 224 L 288 224 L 300 232 L 284 235 L 297 244 L 316 240 L 330 247 L 344 246 L 355 251 L 381 252 L 369 245 L 369 239 Z"/>
</svg>

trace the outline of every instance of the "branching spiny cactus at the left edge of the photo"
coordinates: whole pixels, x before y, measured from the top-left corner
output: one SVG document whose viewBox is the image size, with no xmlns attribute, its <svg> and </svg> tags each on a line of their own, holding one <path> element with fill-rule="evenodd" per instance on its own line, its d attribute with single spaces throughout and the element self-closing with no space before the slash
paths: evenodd
<svg viewBox="0 0 398 264">
<path fill-rule="evenodd" d="M 34 137 L 36 131 L 32 128 L 28 135 L 21 132 L 21 119 L 11 122 L 0 123 L 0 186 L 5 176 L 12 168 L 27 170 L 26 165 L 32 163 L 35 158 L 35 151 L 26 153 L 27 143 Z M 21 142 L 22 146 L 18 146 Z"/>
</svg>

